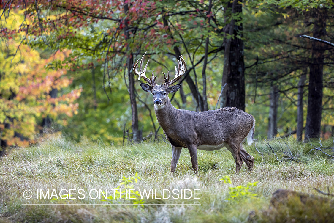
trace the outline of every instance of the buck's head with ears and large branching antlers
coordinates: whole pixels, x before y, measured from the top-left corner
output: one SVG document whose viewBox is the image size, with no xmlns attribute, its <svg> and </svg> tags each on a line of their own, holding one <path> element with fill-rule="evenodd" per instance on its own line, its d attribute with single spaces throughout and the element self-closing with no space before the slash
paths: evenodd
<svg viewBox="0 0 334 223">
<path fill-rule="evenodd" d="M 140 86 L 142 87 L 142 89 L 146 92 L 149 92 L 153 95 L 153 102 L 154 102 L 154 109 L 162 109 L 165 107 L 165 104 L 167 103 L 167 95 L 169 93 L 175 93 L 177 92 L 177 90 L 179 90 L 179 88 L 181 87 L 180 84 L 171 86 L 172 84 L 174 84 L 175 82 L 177 82 L 182 75 L 185 73 L 187 66 L 186 66 L 186 62 L 184 61 L 183 57 L 180 57 L 180 60 L 178 61 L 178 68 L 176 68 L 175 66 L 175 78 L 173 80 L 169 80 L 169 71 L 167 71 L 167 76 L 164 74 L 164 80 L 165 83 L 161 84 L 161 85 L 157 85 L 155 84 L 155 79 L 156 77 L 154 76 L 154 71 L 152 71 L 152 75 L 150 77 L 150 79 L 148 79 L 145 75 L 146 72 L 146 68 L 148 65 L 147 64 L 143 70 L 143 60 L 145 57 L 146 52 L 144 53 L 142 59 L 140 60 L 140 64 L 139 64 L 139 72 L 138 72 L 138 63 L 139 63 L 139 59 L 137 61 L 137 63 L 135 64 L 134 68 L 133 68 L 133 72 L 135 73 L 135 75 L 139 76 L 138 80 L 140 80 L 140 78 L 142 78 L 143 80 L 145 80 L 148 84 L 145 83 L 141 83 Z"/>
</svg>

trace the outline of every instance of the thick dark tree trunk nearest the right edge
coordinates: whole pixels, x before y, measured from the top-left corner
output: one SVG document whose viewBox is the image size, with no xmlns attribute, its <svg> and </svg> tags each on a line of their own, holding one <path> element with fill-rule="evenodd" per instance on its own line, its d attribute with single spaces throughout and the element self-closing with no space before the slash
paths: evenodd
<svg viewBox="0 0 334 223">
<path fill-rule="evenodd" d="M 315 19 L 313 37 L 322 38 L 326 35 L 327 10 L 313 9 Z M 310 65 L 309 95 L 305 126 L 305 139 L 319 138 L 321 130 L 322 88 L 324 66 L 324 43 L 312 41 L 312 63 Z"/>
</svg>

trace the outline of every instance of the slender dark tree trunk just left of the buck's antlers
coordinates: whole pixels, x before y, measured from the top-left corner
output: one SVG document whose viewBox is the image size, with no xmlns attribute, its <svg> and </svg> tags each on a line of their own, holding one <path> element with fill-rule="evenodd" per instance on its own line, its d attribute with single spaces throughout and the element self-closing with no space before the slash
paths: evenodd
<svg viewBox="0 0 334 223">
<path fill-rule="evenodd" d="M 127 15 L 129 11 L 129 7 L 127 4 L 124 4 L 124 13 Z M 130 38 L 129 32 L 128 32 L 128 20 L 125 19 L 124 21 L 124 35 L 125 39 L 128 40 Z M 130 52 L 130 47 L 127 45 L 127 52 Z M 132 140 L 135 142 L 138 142 L 141 140 L 140 137 L 140 132 L 138 129 L 138 112 L 137 112 L 137 102 L 136 102 L 136 95 L 135 95 L 135 78 L 134 78 L 134 73 L 132 72 L 133 68 L 133 54 L 130 53 L 127 62 L 126 62 L 126 67 L 128 70 L 128 77 L 129 77 L 129 93 L 130 93 L 130 103 L 131 103 L 131 112 L 132 112 Z"/>
</svg>

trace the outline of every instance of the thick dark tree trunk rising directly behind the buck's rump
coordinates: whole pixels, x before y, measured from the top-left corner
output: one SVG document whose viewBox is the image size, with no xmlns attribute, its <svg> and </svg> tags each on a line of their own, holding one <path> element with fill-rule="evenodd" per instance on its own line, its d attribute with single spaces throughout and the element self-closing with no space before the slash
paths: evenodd
<svg viewBox="0 0 334 223">
<path fill-rule="evenodd" d="M 231 16 L 235 13 L 242 14 L 242 5 L 236 0 L 233 3 L 228 2 L 226 10 L 231 11 Z M 231 17 L 230 16 L 230 17 Z M 240 21 L 240 20 L 239 20 Z M 238 22 L 239 22 L 238 21 Z M 227 83 L 223 90 L 220 107 L 233 106 L 238 109 L 245 109 L 245 79 L 244 79 L 244 61 L 243 61 L 243 40 L 237 38 L 242 37 L 242 23 L 234 25 L 235 21 L 231 19 L 228 28 L 228 34 L 234 38 L 226 38 L 224 52 L 224 68 L 222 77 L 222 87 Z"/>
</svg>

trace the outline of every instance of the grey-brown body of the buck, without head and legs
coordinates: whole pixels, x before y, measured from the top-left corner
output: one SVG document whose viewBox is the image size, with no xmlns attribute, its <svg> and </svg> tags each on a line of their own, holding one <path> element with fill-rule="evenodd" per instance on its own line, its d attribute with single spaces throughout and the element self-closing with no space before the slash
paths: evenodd
<svg viewBox="0 0 334 223">
<path fill-rule="evenodd" d="M 234 107 L 196 112 L 176 109 L 169 101 L 164 109 L 155 112 L 166 136 L 178 142 L 174 144 L 179 147 L 186 147 L 188 143 L 241 142 L 253 126 L 253 116 Z"/>
</svg>

